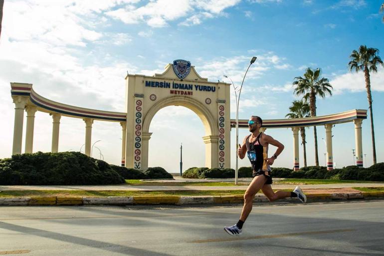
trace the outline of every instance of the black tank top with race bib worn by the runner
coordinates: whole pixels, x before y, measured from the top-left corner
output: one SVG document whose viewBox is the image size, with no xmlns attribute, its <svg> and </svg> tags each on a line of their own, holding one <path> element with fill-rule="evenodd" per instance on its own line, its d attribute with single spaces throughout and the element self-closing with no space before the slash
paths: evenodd
<svg viewBox="0 0 384 256">
<path fill-rule="evenodd" d="M 266 161 L 264 161 L 267 159 L 267 148 L 263 147 L 260 143 L 261 134 L 262 133 L 256 137 L 256 140 L 253 143 L 249 142 L 251 134 L 249 134 L 245 140 L 247 156 L 254 172 L 257 172 L 258 170 L 267 170 Z"/>
</svg>

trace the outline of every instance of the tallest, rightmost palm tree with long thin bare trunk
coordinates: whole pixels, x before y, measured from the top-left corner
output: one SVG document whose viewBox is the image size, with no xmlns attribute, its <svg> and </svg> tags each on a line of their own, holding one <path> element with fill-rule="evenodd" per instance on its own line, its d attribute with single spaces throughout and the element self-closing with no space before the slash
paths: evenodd
<svg viewBox="0 0 384 256">
<path fill-rule="evenodd" d="M 383 5 L 382 5 L 383 6 Z M 367 98 L 370 109 L 371 117 L 371 134 L 372 134 L 372 150 L 374 155 L 374 164 L 376 164 L 376 146 L 375 146 L 375 130 L 374 130 L 374 117 L 372 111 L 372 94 L 371 94 L 371 78 L 370 71 L 373 73 L 378 72 L 377 64 L 383 66 L 383 61 L 378 56 L 379 49 L 367 48 L 366 45 L 360 45 L 359 51 L 353 50 L 350 56 L 351 61 L 348 63 L 350 70 L 356 72 L 363 71 L 366 80 Z"/>
</svg>

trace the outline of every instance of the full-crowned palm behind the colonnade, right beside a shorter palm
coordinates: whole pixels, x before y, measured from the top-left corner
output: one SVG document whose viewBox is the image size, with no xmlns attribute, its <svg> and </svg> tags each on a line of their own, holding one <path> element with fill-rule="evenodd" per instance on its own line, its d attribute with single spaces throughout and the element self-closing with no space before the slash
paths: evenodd
<svg viewBox="0 0 384 256">
<path fill-rule="evenodd" d="M 311 116 L 316 116 L 316 97 L 324 98 L 327 94 L 332 95 L 332 85 L 328 78 L 320 77 L 321 69 L 312 69 L 308 67 L 305 70 L 304 78 L 301 76 L 295 77 L 293 85 L 296 86 L 294 93 L 297 96 L 303 95 L 306 102 L 309 102 Z M 315 163 L 319 166 L 319 154 L 317 150 L 317 132 L 316 126 L 313 127 L 315 136 Z"/>
</svg>

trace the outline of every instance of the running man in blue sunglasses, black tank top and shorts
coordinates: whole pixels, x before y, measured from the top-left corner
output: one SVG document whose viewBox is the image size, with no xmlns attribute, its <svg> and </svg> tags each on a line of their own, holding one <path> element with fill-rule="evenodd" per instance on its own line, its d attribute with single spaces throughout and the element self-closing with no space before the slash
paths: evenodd
<svg viewBox="0 0 384 256">
<path fill-rule="evenodd" d="M 273 139 L 271 136 L 261 133 L 259 130 L 262 125 L 263 120 L 261 120 L 260 117 L 251 116 L 248 121 L 248 127 L 251 134 L 244 138 L 243 145 L 239 145 L 240 147 L 237 152 L 240 159 L 243 159 L 245 154 L 247 154 L 252 166 L 253 180 L 245 191 L 244 206 L 239 221 L 231 227 L 224 227 L 224 230 L 231 236 L 238 236 L 241 234 L 243 224 L 252 210 L 253 198 L 260 189 L 269 201 L 287 197 L 298 198 L 302 203 L 307 201 L 307 197 L 299 187 L 296 187 L 293 192 L 273 192 L 271 188 L 272 176 L 270 166 L 283 151 L 284 145 Z M 275 154 L 270 158 L 268 158 L 269 144 L 277 147 Z"/>
</svg>

